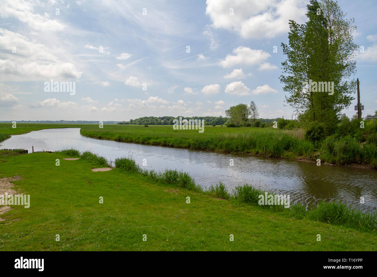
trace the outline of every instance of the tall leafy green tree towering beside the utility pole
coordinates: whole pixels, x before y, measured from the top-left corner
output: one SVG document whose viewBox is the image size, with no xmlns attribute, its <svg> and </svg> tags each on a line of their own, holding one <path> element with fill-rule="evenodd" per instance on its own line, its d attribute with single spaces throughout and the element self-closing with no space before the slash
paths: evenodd
<svg viewBox="0 0 377 277">
<path fill-rule="evenodd" d="M 311 0 L 307 5 L 309 20 L 297 24 L 290 20 L 288 45 L 282 43 L 287 60 L 282 63 L 284 73 L 280 81 L 285 84 L 287 104 L 299 113 L 304 126 L 321 122 L 325 132 L 336 129 L 340 112 L 354 99 L 355 80 L 349 81 L 356 72 L 352 59 L 357 44 L 352 33 L 356 30 L 353 19 L 344 19 L 340 7 L 333 0 Z M 309 80 L 334 82 L 333 94 L 309 90 Z M 323 87 L 322 87 L 323 88 Z"/>
</svg>

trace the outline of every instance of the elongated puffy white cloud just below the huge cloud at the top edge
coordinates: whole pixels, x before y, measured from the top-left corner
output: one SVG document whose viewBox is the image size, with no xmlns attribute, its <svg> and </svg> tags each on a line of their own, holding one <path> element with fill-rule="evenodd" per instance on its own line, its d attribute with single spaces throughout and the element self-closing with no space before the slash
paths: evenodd
<svg viewBox="0 0 377 277">
<path fill-rule="evenodd" d="M 237 64 L 259 64 L 268 59 L 271 55 L 261 49 L 250 49 L 249 47 L 239 46 L 233 49 L 233 54 L 228 54 L 219 65 L 222 67 L 232 67 Z"/>
</svg>

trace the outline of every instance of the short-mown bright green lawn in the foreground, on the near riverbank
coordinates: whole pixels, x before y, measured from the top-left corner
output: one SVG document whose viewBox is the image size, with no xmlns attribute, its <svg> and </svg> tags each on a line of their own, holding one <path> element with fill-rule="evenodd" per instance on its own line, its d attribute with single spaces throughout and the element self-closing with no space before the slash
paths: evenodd
<svg viewBox="0 0 377 277">
<path fill-rule="evenodd" d="M 4 153 L 0 178 L 21 176 L 13 183 L 31 204 L 0 215 L 0 250 L 376 250 L 375 232 L 292 219 L 119 169 L 92 172 L 90 162 L 61 153 Z"/>
</svg>

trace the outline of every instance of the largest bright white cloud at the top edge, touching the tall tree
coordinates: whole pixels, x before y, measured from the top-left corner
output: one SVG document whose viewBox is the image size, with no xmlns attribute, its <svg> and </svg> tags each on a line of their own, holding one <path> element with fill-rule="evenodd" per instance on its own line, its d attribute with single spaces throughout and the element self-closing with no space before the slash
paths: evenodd
<svg viewBox="0 0 377 277">
<path fill-rule="evenodd" d="M 234 31 L 242 38 L 273 38 L 287 34 L 289 21 L 303 23 L 306 0 L 207 0 L 205 13 L 213 28 Z M 230 15 L 233 8 L 234 15 Z"/>
</svg>

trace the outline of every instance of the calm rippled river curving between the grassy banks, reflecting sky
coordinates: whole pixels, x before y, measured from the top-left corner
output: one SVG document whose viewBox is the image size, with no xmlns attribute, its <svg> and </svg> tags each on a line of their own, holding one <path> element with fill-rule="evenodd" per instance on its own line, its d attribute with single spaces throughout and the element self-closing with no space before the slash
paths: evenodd
<svg viewBox="0 0 377 277">
<path fill-rule="evenodd" d="M 342 200 L 362 211 L 377 209 L 377 171 L 368 168 L 319 167 L 312 162 L 100 140 L 80 135 L 80 128 L 32 131 L 0 142 L 0 149 L 23 148 L 29 153 L 32 146 L 34 151 L 90 150 L 109 161 L 132 155 L 142 168 L 183 170 L 204 187 L 219 181 L 228 189 L 248 183 L 262 190 L 290 194 L 291 203 Z M 234 165 L 230 165 L 231 159 Z M 360 197 L 364 197 L 364 204 L 360 204 Z"/>
</svg>

